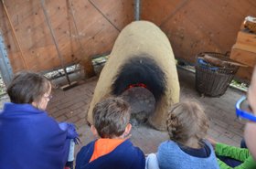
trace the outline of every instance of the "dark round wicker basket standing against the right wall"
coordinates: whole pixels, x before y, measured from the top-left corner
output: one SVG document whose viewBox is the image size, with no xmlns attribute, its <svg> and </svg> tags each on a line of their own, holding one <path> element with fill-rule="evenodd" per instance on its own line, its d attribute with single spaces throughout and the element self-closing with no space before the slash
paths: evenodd
<svg viewBox="0 0 256 169">
<path fill-rule="evenodd" d="M 203 57 L 205 54 L 219 58 L 221 60 L 228 61 L 229 54 L 204 52 L 197 55 Z M 219 97 L 223 95 L 229 87 L 229 83 L 234 78 L 234 75 L 238 71 L 238 66 L 229 67 L 216 67 L 211 65 L 202 65 L 198 61 L 196 62 L 196 89 L 199 93 L 205 94 L 211 97 Z"/>
</svg>

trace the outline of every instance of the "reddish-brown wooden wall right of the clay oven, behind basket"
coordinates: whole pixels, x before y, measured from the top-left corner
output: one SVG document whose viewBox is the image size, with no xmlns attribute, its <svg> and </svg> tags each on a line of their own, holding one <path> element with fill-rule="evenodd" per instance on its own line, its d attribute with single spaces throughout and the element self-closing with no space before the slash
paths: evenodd
<svg viewBox="0 0 256 169">
<path fill-rule="evenodd" d="M 256 16 L 254 0 L 142 0 L 141 17 L 170 39 L 176 58 L 195 62 L 197 53 L 226 53 L 236 42 L 245 16 Z M 250 69 L 240 69 L 242 78 Z"/>
</svg>

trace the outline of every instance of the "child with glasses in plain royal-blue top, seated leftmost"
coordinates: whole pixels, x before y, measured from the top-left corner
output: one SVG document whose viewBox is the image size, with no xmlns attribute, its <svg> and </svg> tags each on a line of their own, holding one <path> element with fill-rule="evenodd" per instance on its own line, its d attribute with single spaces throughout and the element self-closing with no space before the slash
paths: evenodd
<svg viewBox="0 0 256 169">
<path fill-rule="evenodd" d="M 50 81 L 35 72 L 21 71 L 6 92 L 10 102 L 0 111 L 0 168 L 62 169 L 65 164 L 72 168 L 69 145 L 71 139 L 78 139 L 78 133 L 73 124 L 48 116 Z"/>
</svg>

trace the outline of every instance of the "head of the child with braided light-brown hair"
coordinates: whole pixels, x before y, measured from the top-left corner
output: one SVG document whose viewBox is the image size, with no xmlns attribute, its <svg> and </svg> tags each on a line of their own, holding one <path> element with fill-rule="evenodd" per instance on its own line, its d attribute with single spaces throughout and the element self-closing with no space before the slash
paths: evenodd
<svg viewBox="0 0 256 169">
<path fill-rule="evenodd" d="M 166 121 L 170 139 L 186 144 L 190 139 L 199 143 L 207 135 L 208 118 L 196 101 L 183 101 L 173 105 Z"/>
</svg>

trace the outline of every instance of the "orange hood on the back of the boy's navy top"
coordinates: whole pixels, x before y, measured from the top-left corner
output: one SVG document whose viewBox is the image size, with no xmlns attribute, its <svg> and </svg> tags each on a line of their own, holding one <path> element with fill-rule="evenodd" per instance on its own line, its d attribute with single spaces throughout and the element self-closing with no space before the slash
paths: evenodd
<svg viewBox="0 0 256 169">
<path fill-rule="evenodd" d="M 96 160 L 97 158 L 111 153 L 118 145 L 123 143 L 125 139 L 99 139 L 94 144 L 94 151 L 91 155 L 90 162 Z"/>
</svg>

